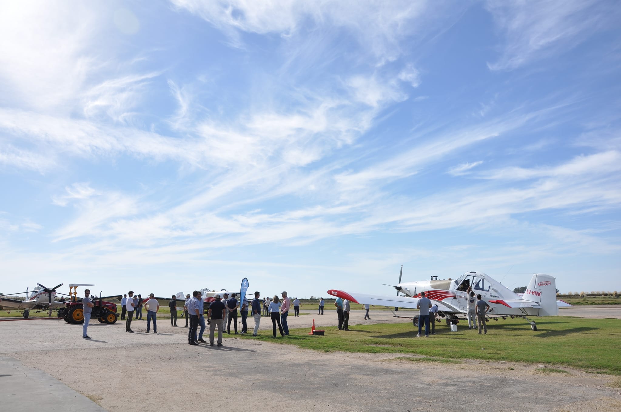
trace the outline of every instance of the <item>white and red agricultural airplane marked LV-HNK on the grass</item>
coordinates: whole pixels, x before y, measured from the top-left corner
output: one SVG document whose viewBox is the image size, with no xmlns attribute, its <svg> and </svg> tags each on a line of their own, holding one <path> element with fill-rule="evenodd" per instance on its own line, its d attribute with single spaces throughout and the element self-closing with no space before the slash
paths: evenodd
<svg viewBox="0 0 621 412">
<path fill-rule="evenodd" d="M 380 305 L 398 308 L 416 308 L 420 292 L 425 292 L 432 304 L 438 305 L 440 316 L 446 316 L 446 324 L 456 324 L 465 319 L 468 313 L 468 292 L 471 288 L 475 295 L 489 303 L 490 309 L 487 318 L 524 318 L 530 323 L 533 331 L 537 331 L 535 321 L 527 316 L 556 316 L 559 307 L 570 307 L 569 303 L 556 300 L 555 277 L 545 274 L 533 274 L 530 283 L 523 295 L 514 293 L 501 285 L 491 276 L 483 272 L 466 272 L 456 280 L 420 280 L 419 282 L 401 283 L 394 286 L 397 289 L 396 297 L 369 295 L 366 293 L 345 292 L 343 290 L 328 290 L 329 295 L 348 299 L 363 305 Z M 437 277 L 436 277 L 437 278 Z M 405 296 L 399 296 L 399 293 Z M 397 315 L 395 315 L 397 316 Z M 414 316 L 414 326 L 418 327 L 419 316 Z"/>
</svg>

